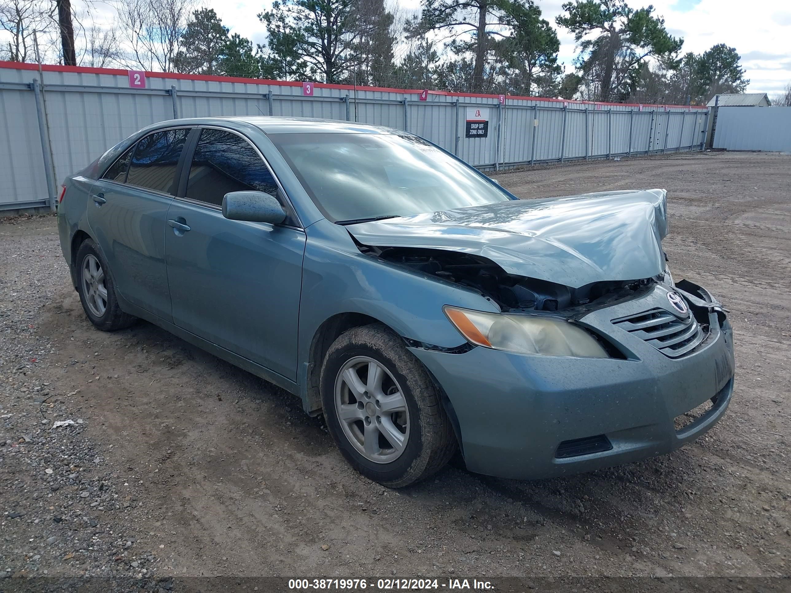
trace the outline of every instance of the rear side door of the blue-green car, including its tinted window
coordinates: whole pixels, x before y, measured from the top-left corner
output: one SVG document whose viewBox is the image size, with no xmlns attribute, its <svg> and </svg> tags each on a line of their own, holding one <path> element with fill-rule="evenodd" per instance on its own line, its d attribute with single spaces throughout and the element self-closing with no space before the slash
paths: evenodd
<svg viewBox="0 0 791 593">
<path fill-rule="evenodd" d="M 168 322 L 165 214 L 190 131 L 159 130 L 138 140 L 93 185 L 88 203 L 88 223 L 120 296 Z"/>
</svg>

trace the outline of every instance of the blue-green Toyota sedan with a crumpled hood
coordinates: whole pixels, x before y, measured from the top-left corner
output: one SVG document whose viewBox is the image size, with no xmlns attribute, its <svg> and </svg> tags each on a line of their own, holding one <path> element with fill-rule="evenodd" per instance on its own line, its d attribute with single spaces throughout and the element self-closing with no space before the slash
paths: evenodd
<svg viewBox="0 0 791 593">
<path fill-rule="evenodd" d="M 284 387 L 400 487 L 457 450 L 504 478 L 645 459 L 722 417 L 732 330 L 673 281 L 666 208 L 522 201 L 401 130 L 202 118 L 70 176 L 58 223 L 94 326 L 146 319 Z"/>
</svg>

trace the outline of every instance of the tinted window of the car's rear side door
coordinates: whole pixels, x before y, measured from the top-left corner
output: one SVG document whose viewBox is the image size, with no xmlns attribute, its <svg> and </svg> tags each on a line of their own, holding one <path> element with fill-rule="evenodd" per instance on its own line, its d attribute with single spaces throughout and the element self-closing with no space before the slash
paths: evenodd
<svg viewBox="0 0 791 593">
<path fill-rule="evenodd" d="M 176 165 L 190 130 L 164 130 L 142 138 L 134 150 L 127 183 L 176 195 Z"/>
</svg>

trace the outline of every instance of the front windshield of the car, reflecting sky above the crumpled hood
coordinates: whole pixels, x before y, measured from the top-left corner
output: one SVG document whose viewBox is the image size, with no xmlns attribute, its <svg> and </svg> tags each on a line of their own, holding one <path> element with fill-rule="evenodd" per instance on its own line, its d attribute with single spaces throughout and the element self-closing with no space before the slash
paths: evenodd
<svg viewBox="0 0 791 593">
<path fill-rule="evenodd" d="M 505 202 L 505 190 L 422 138 L 270 134 L 329 220 L 409 216 Z"/>
</svg>

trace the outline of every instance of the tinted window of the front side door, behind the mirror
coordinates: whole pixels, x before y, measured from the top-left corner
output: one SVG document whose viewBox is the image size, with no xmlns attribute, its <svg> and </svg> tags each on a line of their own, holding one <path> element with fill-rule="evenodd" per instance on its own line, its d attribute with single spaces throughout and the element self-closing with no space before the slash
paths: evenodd
<svg viewBox="0 0 791 593">
<path fill-rule="evenodd" d="M 252 145 L 223 130 L 202 130 L 192 157 L 187 198 L 222 206 L 229 191 L 265 191 L 278 186 Z"/>
</svg>

